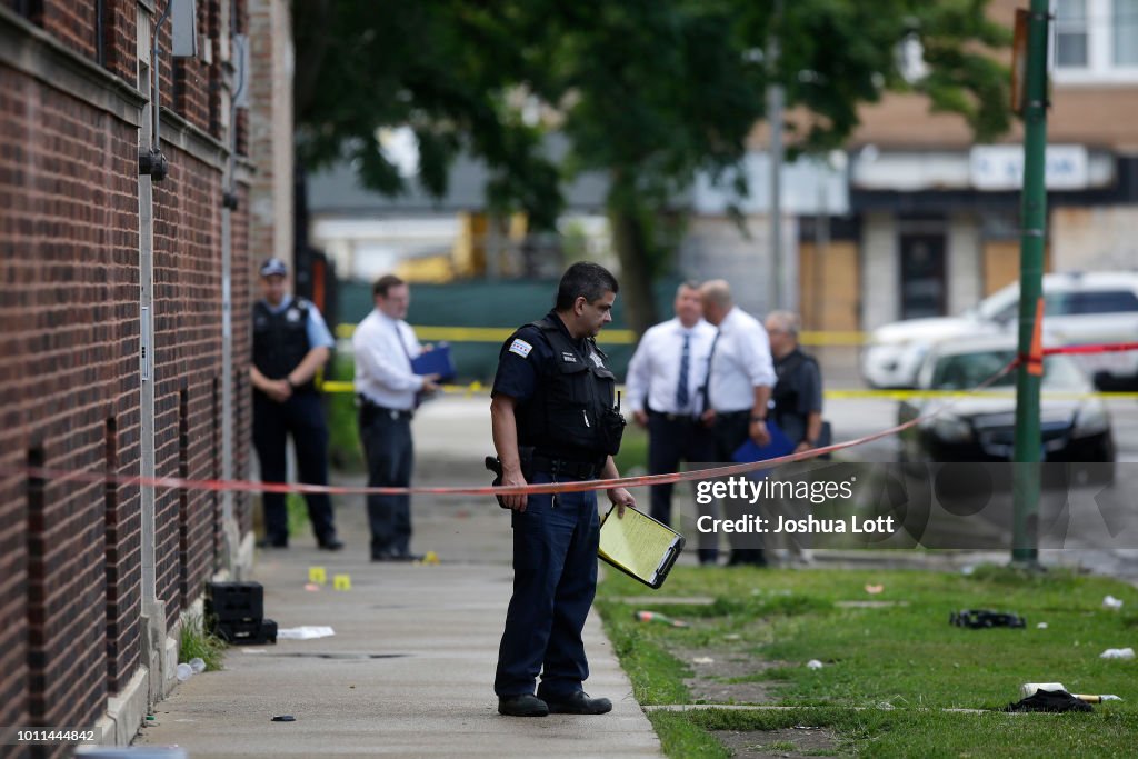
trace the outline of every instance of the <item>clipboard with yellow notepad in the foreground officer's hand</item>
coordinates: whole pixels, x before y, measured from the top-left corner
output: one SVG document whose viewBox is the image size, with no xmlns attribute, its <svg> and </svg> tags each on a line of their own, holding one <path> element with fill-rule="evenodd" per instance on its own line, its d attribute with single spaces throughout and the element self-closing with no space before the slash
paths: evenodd
<svg viewBox="0 0 1138 759">
<path fill-rule="evenodd" d="M 663 585 L 683 550 L 683 535 L 632 506 L 619 519 L 612 506 L 601 520 L 601 559 L 653 589 Z"/>
</svg>

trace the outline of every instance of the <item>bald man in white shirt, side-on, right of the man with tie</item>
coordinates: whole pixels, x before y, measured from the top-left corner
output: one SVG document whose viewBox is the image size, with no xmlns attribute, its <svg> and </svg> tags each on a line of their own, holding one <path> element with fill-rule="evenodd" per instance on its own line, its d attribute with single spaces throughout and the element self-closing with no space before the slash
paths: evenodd
<svg viewBox="0 0 1138 759">
<path fill-rule="evenodd" d="M 732 303 L 724 280 L 700 288 L 703 317 L 719 328 L 711 348 L 703 420 L 711 427 L 716 461 L 731 462 L 748 437 L 767 445 L 767 411 L 775 385 L 770 340 L 757 319 Z M 733 514 L 728 513 L 728 518 Z M 752 547 L 758 536 L 732 534 L 729 564 L 765 566 L 762 548 Z M 741 544 L 748 543 L 747 547 Z"/>
</svg>

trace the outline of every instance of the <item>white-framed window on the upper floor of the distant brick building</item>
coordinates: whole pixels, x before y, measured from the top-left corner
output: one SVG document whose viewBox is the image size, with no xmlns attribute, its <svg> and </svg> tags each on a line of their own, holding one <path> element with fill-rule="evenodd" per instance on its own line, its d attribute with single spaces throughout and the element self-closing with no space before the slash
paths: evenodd
<svg viewBox="0 0 1138 759">
<path fill-rule="evenodd" d="M 1138 0 L 1054 0 L 1059 83 L 1138 82 Z"/>
</svg>

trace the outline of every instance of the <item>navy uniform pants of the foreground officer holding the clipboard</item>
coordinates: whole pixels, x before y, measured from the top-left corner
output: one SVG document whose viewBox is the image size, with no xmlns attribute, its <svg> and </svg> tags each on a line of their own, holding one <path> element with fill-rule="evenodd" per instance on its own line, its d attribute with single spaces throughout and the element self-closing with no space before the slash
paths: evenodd
<svg viewBox="0 0 1138 759">
<path fill-rule="evenodd" d="M 551 481 L 536 473 L 531 484 Z M 531 495 L 513 512 L 513 597 L 498 649 L 494 692 L 563 700 L 582 690 L 588 660 L 582 630 L 596 594 L 600 520 L 595 493 Z"/>
</svg>

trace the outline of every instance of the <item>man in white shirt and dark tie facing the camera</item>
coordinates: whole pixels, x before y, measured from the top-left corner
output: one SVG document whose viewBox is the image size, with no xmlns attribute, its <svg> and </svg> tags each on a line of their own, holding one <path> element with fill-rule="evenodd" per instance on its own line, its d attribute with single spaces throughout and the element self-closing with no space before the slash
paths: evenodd
<svg viewBox="0 0 1138 759">
<path fill-rule="evenodd" d="M 700 423 L 700 388 L 707 377 L 715 328 L 703 321 L 700 289 L 684 282 L 676 290 L 676 316 L 652 327 L 628 363 L 625 391 L 633 419 L 648 428 L 648 469 L 674 472 L 679 462 L 715 461 L 711 430 Z M 652 486 L 652 518 L 671 519 L 673 486 Z M 700 546 L 700 563 L 715 563 L 714 544 Z"/>
</svg>

